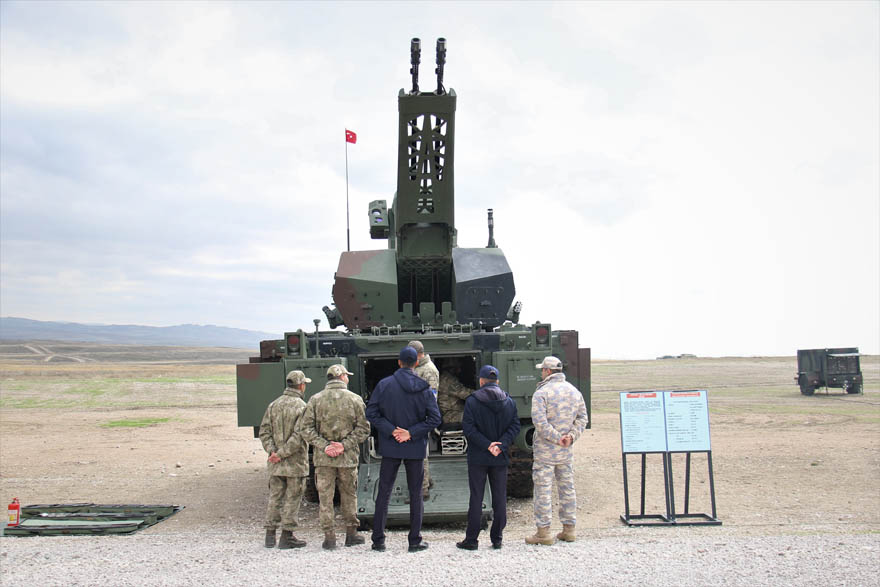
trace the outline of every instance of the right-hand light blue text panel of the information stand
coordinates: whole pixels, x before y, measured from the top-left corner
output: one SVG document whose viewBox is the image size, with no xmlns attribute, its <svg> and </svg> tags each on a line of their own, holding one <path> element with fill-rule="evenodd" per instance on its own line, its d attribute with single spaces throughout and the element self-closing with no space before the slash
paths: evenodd
<svg viewBox="0 0 880 587">
<path fill-rule="evenodd" d="M 666 406 L 666 450 L 712 450 L 709 443 L 709 402 L 706 391 L 666 391 L 663 395 Z"/>
</svg>

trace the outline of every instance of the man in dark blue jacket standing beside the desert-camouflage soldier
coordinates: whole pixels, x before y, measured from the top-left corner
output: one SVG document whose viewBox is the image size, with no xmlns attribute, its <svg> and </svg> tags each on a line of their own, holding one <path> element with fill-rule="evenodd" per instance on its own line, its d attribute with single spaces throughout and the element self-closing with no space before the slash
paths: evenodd
<svg viewBox="0 0 880 587">
<path fill-rule="evenodd" d="M 468 525 L 464 540 L 456 546 L 477 550 L 480 518 L 483 513 L 483 492 L 486 478 L 492 492 L 492 548 L 501 548 L 501 535 L 507 525 L 507 465 L 510 445 L 519 434 L 516 402 L 498 387 L 498 369 L 484 365 L 480 369 L 480 389 L 464 403 L 461 427 L 468 441 Z"/>
</svg>

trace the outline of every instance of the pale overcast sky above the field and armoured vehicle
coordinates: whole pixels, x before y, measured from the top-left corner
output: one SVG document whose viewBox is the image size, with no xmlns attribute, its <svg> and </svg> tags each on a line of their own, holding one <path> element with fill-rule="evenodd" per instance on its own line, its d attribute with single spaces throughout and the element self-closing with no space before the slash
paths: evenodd
<svg viewBox="0 0 880 587">
<path fill-rule="evenodd" d="M 597 358 L 880 353 L 880 3 L 0 4 L 0 313 L 313 328 L 448 40 L 459 245 Z M 326 328 L 326 321 L 322 328 Z"/>
</svg>

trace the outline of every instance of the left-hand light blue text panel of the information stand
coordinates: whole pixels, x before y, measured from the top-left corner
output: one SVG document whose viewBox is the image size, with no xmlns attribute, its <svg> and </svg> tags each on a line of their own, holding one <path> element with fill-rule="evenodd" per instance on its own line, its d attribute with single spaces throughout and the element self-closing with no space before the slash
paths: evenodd
<svg viewBox="0 0 880 587">
<path fill-rule="evenodd" d="M 666 451 L 662 392 L 621 392 L 620 439 L 625 453 Z"/>
</svg>

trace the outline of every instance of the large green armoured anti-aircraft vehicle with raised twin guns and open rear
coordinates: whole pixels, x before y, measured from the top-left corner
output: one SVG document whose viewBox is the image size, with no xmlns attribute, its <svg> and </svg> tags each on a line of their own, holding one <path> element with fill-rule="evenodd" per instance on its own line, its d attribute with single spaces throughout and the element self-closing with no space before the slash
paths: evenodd
<svg viewBox="0 0 880 587">
<path fill-rule="evenodd" d="M 443 87 L 446 41 L 437 41 L 437 88 L 421 91 L 418 71 L 421 44 L 410 45 L 412 89 L 400 90 L 397 103 L 397 192 L 368 209 L 370 236 L 387 240 L 384 249 L 341 254 L 333 285 L 333 307 L 323 312 L 330 328 L 298 329 L 279 340 L 260 343 L 260 356 L 237 366 L 238 423 L 254 435 L 266 406 L 284 388 L 285 375 L 301 369 L 313 380 L 306 393 L 320 391 L 334 363 L 353 373 L 349 389 L 369 401 L 380 379 L 397 368 L 401 348 L 420 340 L 441 375 L 457 370 L 461 383 L 478 387 L 480 367 L 498 368 L 500 385 L 516 401 L 522 430 L 512 450 L 508 492 L 532 494 L 534 426 L 531 398 L 540 379 L 535 365 L 548 355 L 562 359 L 567 379 L 590 407 L 590 349 L 578 346 L 574 330 L 550 324 L 519 324 L 513 274 L 495 244 L 493 212 L 488 211 L 488 244 L 457 245 L 454 198 L 456 94 Z M 546 241 L 545 241 L 546 242 Z M 541 239 L 535 240 L 540 247 Z M 442 393 L 441 385 L 441 393 Z M 425 519 L 463 519 L 468 506 L 467 442 L 460 426 L 445 424 L 429 441 L 430 497 Z M 452 428 L 456 428 L 452 426 Z M 358 515 L 369 523 L 378 489 L 376 431 L 361 449 Z M 401 469 L 389 507 L 389 520 L 408 519 L 406 477 Z M 488 495 L 488 486 L 487 486 Z M 486 499 L 484 511 L 490 500 Z"/>
</svg>

